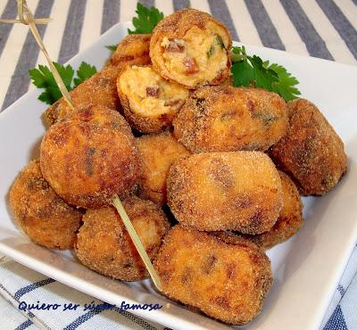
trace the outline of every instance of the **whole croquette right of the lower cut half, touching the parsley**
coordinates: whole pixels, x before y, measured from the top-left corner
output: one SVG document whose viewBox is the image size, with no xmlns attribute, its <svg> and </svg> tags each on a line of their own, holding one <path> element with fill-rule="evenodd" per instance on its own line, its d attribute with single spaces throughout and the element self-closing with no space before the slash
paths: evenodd
<svg viewBox="0 0 357 330">
<path fill-rule="evenodd" d="M 193 153 L 265 151 L 286 135 L 286 103 L 259 88 L 201 87 L 173 126 L 174 136 Z"/>
</svg>

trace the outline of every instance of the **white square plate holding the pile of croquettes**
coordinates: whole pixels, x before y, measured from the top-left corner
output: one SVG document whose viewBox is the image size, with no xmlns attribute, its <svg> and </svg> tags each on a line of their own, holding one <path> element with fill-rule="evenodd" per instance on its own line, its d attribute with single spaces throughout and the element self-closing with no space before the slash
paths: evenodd
<svg viewBox="0 0 357 330">
<path fill-rule="evenodd" d="M 94 45 L 71 61 L 101 68 L 110 52 L 104 47 L 118 43 L 129 23 L 108 30 Z M 274 285 L 262 314 L 247 329 L 318 329 L 332 293 L 352 252 L 357 237 L 357 67 L 248 46 L 247 52 L 263 60 L 278 62 L 300 80 L 302 96 L 320 107 L 345 142 L 349 170 L 340 184 L 319 198 L 304 198 L 303 229 L 294 238 L 268 253 Z M 13 179 L 38 157 L 38 145 L 45 132 L 41 114 L 46 104 L 29 92 L 0 113 L 0 252 L 112 304 L 161 303 L 160 310 L 133 313 L 175 329 L 221 329 L 223 324 L 189 311 L 155 292 L 149 280 L 129 284 L 115 281 L 83 267 L 71 252 L 41 248 L 21 234 L 13 221 L 8 191 Z"/>
</svg>

